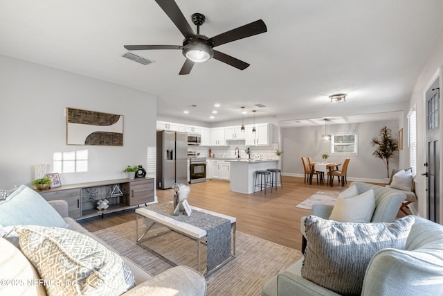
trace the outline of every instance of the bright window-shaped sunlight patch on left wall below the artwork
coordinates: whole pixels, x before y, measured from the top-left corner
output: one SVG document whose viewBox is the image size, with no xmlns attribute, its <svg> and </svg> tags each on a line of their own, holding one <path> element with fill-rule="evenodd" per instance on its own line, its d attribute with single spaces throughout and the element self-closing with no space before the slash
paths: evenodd
<svg viewBox="0 0 443 296">
<path fill-rule="evenodd" d="M 60 173 L 88 171 L 88 150 L 56 152 L 53 154 L 53 168 Z"/>
</svg>

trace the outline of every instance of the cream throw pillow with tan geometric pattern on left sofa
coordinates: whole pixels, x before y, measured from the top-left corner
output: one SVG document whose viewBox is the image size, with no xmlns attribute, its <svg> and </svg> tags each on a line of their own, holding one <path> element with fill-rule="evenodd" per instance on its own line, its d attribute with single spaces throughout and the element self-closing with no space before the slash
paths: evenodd
<svg viewBox="0 0 443 296">
<path fill-rule="evenodd" d="M 16 226 L 21 252 L 48 295 L 120 295 L 135 286 L 123 259 L 95 239 L 58 227 Z"/>
</svg>

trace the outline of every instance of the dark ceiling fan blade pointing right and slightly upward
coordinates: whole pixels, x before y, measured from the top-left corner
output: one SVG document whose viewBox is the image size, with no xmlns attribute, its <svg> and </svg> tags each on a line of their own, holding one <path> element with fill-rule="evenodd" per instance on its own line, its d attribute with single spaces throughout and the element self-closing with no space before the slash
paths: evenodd
<svg viewBox="0 0 443 296">
<path fill-rule="evenodd" d="M 267 31 L 268 29 L 266 28 L 266 24 L 264 24 L 264 21 L 262 21 L 262 19 L 259 19 L 258 21 L 253 21 L 251 24 L 247 24 L 209 38 L 207 42 L 213 42 L 213 47 L 215 47 L 221 44 L 261 34 Z"/>
</svg>

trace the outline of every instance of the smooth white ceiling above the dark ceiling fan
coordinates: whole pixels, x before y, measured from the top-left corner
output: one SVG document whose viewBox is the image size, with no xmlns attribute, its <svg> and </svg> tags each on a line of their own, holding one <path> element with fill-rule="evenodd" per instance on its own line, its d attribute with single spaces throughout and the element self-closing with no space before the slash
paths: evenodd
<svg viewBox="0 0 443 296">
<path fill-rule="evenodd" d="M 406 102 L 443 28 L 441 0 L 177 4 L 189 21 L 206 15 L 208 37 L 263 19 L 268 32 L 217 47 L 251 66 L 209 60 L 179 76 L 181 51 L 134 51 L 155 61 L 147 66 L 122 58 L 125 44 L 181 45 L 154 0 L 0 0 L 0 54 L 155 94 L 158 114 L 218 122 L 239 118 L 240 106 L 248 116 L 311 112 L 341 92 L 347 107 Z"/>
</svg>

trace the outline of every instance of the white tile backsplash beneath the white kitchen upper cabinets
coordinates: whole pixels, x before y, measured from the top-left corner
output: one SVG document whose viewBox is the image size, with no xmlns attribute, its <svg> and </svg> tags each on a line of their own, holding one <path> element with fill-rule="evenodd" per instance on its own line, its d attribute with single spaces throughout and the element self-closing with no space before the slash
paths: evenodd
<svg viewBox="0 0 443 296">
<path fill-rule="evenodd" d="M 201 147 L 201 146 L 188 146 L 188 150 L 196 151 L 200 153 L 199 157 L 209 157 L 209 149 L 217 158 L 235 158 L 235 148 L 239 148 L 240 158 L 246 159 L 247 155 L 244 152 L 246 145 L 244 141 L 229 141 L 230 146 L 225 147 Z M 275 149 L 278 148 L 278 143 L 271 146 L 247 146 L 251 150 L 251 159 L 254 155 L 260 155 L 262 159 L 275 159 Z"/>
</svg>

